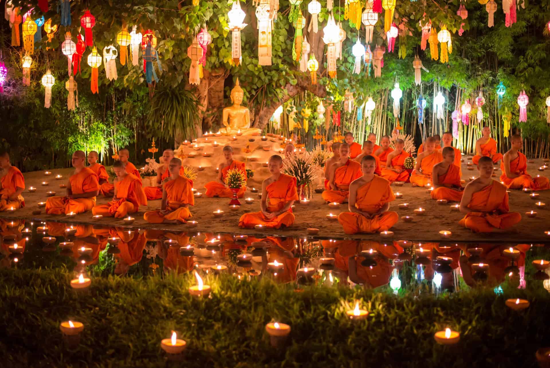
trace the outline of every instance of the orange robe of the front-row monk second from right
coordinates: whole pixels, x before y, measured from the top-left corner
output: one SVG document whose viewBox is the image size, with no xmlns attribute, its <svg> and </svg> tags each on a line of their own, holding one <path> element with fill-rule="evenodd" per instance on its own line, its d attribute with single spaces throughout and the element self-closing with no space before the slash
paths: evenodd
<svg viewBox="0 0 550 368">
<path fill-rule="evenodd" d="M 370 214 L 376 213 L 388 202 L 394 201 L 395 195 L 388 180 L 375 176 L 370 183 L 357 189 L 355 207 Z M 386 231 L 399 220 L 397 212 L 386 211 L 373 218 L 366 218 L 360 213 L 341 212 L 338 222 L 346 234 L 374 233 Z"/>
</svg>

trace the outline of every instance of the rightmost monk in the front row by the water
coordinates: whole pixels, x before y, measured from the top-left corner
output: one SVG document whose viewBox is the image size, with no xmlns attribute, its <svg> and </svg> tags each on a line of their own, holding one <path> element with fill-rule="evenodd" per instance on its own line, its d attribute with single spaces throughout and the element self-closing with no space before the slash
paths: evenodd
<svg viewBox="0 0 550 368">
<path fill-rule="evenodd" d="M 521 221 L 519 212 L 508 212 L 506 186 L 491 179 L 493 159 L 480 157 L 477 163 L 480 176 L 466 185 L 460 201 L 460 212 L 465 213 L 460 225 L 478 233 L 508 229 Z"/>
</svg>

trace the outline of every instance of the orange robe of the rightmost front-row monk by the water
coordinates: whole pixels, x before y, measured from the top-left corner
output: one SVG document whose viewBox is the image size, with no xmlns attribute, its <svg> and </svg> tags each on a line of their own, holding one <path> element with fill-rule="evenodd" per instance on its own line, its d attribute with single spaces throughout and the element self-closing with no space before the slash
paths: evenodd
<svg viewBox="0 0 550 368">
<path fill-rule="evenodd" d="M 477 233 L 508 229 L 521 221 L 519 212 L 508 212 L 510 207 L 506 186 L 496 180 L 474 193 L 468 208 L 472 212 L 460 220 L 460 225 Z"/>
</svg>

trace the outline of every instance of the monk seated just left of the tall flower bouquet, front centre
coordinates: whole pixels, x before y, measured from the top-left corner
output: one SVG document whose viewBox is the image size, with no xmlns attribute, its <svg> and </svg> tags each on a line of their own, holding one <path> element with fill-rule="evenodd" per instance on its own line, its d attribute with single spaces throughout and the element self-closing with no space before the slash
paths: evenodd
<svg viewBox="0 0 550 368">
<path fill-rule="evenodd" d="M 256 225 L 263 225 L 270 229 L 280 229 L 294 223 L 292 205 L 299 199 L 296 178 L 281 173 L 282 167 L 281 156 L 270 157 L 268 168 L 271 177 L 262 182 L 261 211 L 245 213 L 239 219 L 239 227 L 252 229 Z"/>
</svg>

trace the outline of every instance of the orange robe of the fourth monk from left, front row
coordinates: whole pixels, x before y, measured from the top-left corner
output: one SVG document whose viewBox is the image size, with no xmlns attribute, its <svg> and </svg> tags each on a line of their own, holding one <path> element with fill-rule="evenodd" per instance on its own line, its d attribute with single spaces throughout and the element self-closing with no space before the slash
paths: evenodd
<svg viewBox="0 0 550 368">
<path fill-rule="evenodd" d="M 162 215 L 160 210 L 147 211 L 143 218 L 145 221 L 153 224 L 160 224 L 167 220 L 178 220 L 183 223 L 187 222 L 187 219 L 193 217 L 188 207 L 184 205 L 195 205 L 195 196 L 193 195 L 193 187 L 189 180 L 184 177 L 169 180 L 164 183 L 164 189 L 166 190 L 166 211 L 169 211 L 167 215 Z"/>
</svg>

